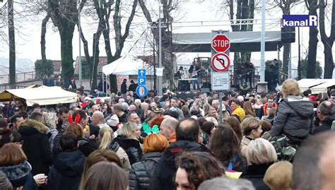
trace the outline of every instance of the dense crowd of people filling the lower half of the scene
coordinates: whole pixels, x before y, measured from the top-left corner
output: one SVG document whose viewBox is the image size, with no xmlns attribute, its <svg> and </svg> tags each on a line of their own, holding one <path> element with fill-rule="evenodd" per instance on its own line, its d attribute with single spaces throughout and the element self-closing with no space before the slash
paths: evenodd
<svg viewBox="0 0 335 190">
<path fill-rule="evenodd" d="M 273 94 L 6 102 L 0 189 L 335 189 L 334 103 L 293 79 Z"/>
</svg>

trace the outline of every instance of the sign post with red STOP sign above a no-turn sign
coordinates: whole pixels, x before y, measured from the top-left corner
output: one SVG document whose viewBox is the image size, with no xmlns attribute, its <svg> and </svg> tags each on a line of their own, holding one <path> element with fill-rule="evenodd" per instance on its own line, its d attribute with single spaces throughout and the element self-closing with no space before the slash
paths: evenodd
<svg viewBox="0 0 335 190">
<path fill-rule="evenodd" d="M 219 124 L 223 123 L 222 97 L 223 92 L 230 90 L 230 72 L 228 71 L 230 66 L 229 48 L 230 39 L 229 31 L 212 31 L 212 59 L 211 59 L 211 83 L 212 90 L 217 90 L 219 94 L 219 109 L 220 109 L 220 121 Z"/>
</svg>

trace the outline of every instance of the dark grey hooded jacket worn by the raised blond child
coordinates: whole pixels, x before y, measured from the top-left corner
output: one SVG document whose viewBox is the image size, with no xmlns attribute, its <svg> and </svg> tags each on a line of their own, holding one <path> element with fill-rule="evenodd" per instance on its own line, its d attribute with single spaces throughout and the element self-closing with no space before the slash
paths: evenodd
<svg viewBox="0 0 335 190">
<path fill-rule="evenodd" d="M 306 138 L 314 130 L 313 108 L 310 100 L 302 99 L 300 96 L 283 98 L 269 132 L 272 136 L 284 133 L 291 141 L 292 137 Z"/>
</svg>

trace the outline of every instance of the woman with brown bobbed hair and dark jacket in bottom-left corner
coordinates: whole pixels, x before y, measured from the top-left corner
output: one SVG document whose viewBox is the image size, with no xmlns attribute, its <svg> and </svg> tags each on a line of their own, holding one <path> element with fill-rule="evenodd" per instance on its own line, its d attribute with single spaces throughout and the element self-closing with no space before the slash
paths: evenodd
<svg viewBox="0 0 335 190">
<path fill-rule="evenodd" d="M 37 184 L 31 174 L 32 166 L 22 148 L 15 143 L 7 143 L 0 150 L 0 171 L 11 182 L 12 189 L 37 190 Z M 8 186 L 8 183 L 6 183 Z M 1 183 L 1 190 L 5 184 Z"/>
</svg>

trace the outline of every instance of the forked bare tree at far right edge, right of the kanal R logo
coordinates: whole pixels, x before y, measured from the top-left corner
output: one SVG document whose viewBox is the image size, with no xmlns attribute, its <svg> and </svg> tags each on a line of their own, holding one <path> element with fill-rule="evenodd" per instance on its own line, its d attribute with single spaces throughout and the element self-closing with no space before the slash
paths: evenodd
<svg viewBox="0 0 335 190">
<path fill-rule="evenodd" d="M 331 8 L 331 27 L 329 37 L 326 34 L 326 28 L 324 26 L 324 15 L 327 7 L 327 0 L 319 1 L 319 29 L 321 35 L 321 41 L 324 44 L 324 78 L 331 78 L 334 70 L 334 60 L 332 47 L 335 40 L 335 3 L 333 2 Z"/>
</svg>

